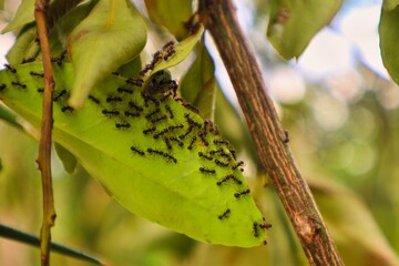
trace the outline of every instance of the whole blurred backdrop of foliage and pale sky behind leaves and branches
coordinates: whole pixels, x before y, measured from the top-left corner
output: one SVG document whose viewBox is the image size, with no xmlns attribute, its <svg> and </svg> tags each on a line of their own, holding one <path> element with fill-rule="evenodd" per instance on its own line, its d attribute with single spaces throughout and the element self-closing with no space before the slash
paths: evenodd
<svg viewBox="0 0 399 266">
<path fill-rule="evenodd" d="M 134 2 L 145 14 L 144 4 Z M 12 18 L 18 3 L 0 1 L 0 29 Z M 399 88 L 390 81 L 380 58 L 381 1 L 345 0 L 331 23 L 297 61 L 289 62 L 282 60 L 266 40 L 265 1 L 235 3 L 268 93 L 289 132 L 296 163 L 346 265 L 399 265 Z M 0 35 L 1 65 L 13 41 L 12 33 Z M 150 35 L 150 53 L 160 47 L 156 43 L 158 39 Z M 208 35 L 206 44 L 221 88 L 238 110 Z M 181 69 L 174 72 L 183 75 Z M 216 113 L 216 122 L 222 122 L 222 116 L 228 121 L 227 115 L 234 112 Z M 237 129 L 221 126 L 227 136 L 236 137 L 228 132 Z M 244 142 L 249 142 L 241 147 L 241 157 L 248 162 L 252 191 L 273 224 L 266 247 L 211 246 L 146 222 L 110 198 L 84 170 L 68 175 L 57 155 L 53 241 L 111 265 L 307 265 L 284 208 L 267 185 L 267 176 L 256 171 L 250 141 L 244 137 Z M 37 141 L 0 121 L 0 223 L 38 235 L 41 183 L 37 153 Z M 57 254 L 52 263 L 90 265 Z M 0 265 L 39 265 L 39 249 L 0 238 Z"/>
</svg>

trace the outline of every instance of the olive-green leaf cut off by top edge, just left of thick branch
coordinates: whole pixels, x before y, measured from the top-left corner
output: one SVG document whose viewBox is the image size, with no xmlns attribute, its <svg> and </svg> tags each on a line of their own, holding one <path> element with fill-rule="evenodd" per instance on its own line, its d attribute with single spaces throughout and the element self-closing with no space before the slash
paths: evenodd
<svg viewBox="0 0 399 266">
<path fill-rule="evenodd" d="M 192 16 L 192 1 L 187 0 L 145 0 L 150 18 L 165 27 L 177 40 L 187 34 L 184 22 Z"/>
</svg>

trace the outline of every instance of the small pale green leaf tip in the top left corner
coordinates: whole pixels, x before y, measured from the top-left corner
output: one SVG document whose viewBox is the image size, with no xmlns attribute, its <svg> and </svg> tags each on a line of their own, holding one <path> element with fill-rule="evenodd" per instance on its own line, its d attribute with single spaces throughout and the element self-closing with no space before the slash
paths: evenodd
<svg viewBox="0 0 399 266">
<path fill-rule="evenodd" d="M 1 31 L 7 33 L 34 20 L 34 0 L 22 0 L 12 21 Z"/>
</svg>

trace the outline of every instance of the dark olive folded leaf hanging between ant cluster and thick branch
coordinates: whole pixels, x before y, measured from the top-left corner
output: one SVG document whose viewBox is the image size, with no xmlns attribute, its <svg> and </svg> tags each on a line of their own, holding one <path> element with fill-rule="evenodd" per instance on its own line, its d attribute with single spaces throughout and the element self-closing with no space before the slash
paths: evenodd
<svg viewBox="0 0 399 266">
<path fill-rule="evenodd" d="M 215 65 L 203 42 L 197 45 L 196 59 L 181 82 L 182 96 L 213 119 L 216 101 Z"/>
</svg>

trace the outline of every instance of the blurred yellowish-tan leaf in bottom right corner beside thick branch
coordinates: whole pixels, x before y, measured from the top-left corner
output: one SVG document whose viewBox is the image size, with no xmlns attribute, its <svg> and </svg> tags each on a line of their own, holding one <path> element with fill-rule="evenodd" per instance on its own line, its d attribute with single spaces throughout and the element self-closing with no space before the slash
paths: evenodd
<svg viewBox="0 0 399 266">
<path fill-rule="evenodd" d="M 399 265 L 399 258 L 355 193 L 319 176 L 310 178 L 309 186 L 347 265 Z"/>
</svg>

